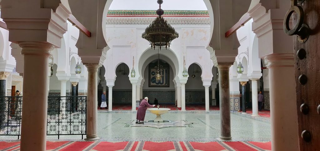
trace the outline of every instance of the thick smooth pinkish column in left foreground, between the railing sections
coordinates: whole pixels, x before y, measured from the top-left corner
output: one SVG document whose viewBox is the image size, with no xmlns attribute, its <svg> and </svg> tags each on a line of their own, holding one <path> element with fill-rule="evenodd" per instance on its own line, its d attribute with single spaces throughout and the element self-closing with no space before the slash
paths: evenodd
<svg viewBox="0 0 320 151">
<path fill-rule="evenodd" d="M 47 42 L 18 42 L 24 57 L 20 148 L 46 150 L 48 64 L 54 47 Z M 32 137 L 32 139 L 30 139 Z"/>
</svg>

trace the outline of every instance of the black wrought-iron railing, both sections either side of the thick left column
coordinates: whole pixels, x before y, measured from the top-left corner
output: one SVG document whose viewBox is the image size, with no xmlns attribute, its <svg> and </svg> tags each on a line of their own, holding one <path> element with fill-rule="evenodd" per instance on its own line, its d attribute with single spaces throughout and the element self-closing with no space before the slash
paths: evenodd
<svg viewBox="0 0 320 151">
<path fill-rule="evenodd" d="M 47 135 L 86 135 L 86 96 L 49 96 Z M 0 97 L 0 135 L 20 137 L 22 97 Z"/>
</svg>

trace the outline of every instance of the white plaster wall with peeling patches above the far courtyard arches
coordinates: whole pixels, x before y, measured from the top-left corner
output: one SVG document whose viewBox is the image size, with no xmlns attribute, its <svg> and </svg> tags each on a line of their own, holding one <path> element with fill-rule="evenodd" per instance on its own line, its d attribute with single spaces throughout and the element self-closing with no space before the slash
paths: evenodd
<svg viewBox="0 0 320 151">
<path fill-rule="evenodd" d="M 140 60 L 146 60 L 157 54 L 157 50 L 149 49 L 149 42 L 141 38 L 146 27 L 147 25 L 107 25 L 107 43 L 110 50 L 104 62 L 107 70 L 106 79 L 114 79 L 115 68 L 120 63 L 127 64 L 131 71 L 133 57 L 136 78 L 141 76 L 140 72 L 145 62 Z M 186 64 L 197 62 L 204 67 L 204 78 L 211 80 L 213 64 L 209 51 L 205 49 L 210 40 L 210 26 L 176 25 L 174 28 L 180 37 L 172 41 L 171 50 L 162 48 L 160 54 L 166 55 L 174 63 L 175 67 L 172 69 L 176 70 L 176 76 L 182 77 L 185 56 Z"/>
</svg>

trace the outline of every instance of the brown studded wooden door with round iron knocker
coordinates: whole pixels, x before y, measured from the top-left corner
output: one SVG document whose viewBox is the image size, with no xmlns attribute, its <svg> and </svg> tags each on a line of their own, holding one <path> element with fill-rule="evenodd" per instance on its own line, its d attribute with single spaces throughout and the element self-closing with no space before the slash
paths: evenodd
<svg viewBox="0 0 320 151">
<path fill-rule="evenodd" d="M 320 150 L 320 1 L 292 0 L 293 35 L 300 150 Z M 287 26 L 287 27 L 286 27 Z M 287 31 L 286 31 L 287 29 Z"/>
</svg>

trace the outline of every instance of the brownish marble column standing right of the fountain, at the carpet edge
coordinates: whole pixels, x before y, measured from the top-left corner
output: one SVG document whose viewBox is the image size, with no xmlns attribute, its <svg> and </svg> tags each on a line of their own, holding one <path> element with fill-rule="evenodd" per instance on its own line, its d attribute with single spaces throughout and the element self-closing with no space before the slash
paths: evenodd
<svg viewBox="0 0 320 151">
<path fill-rule="evenodd" d="M 231 140 L 229 68 L 231 65 L 217 65 L 219 71 L 220 95 L 220 139 Z"/>
</svg>

